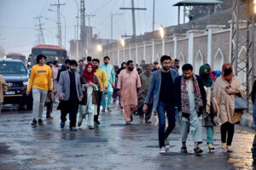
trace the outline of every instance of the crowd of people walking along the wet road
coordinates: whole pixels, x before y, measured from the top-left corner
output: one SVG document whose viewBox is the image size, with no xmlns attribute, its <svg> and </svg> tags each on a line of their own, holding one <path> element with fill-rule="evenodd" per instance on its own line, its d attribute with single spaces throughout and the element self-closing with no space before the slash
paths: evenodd
<svg viewBox="0 0 256 170">
<path fill-rule="evenodd" d="M 231 63 L 224 63 L 222 71 L 212 71 L 208 64 L 201 65 L 197 75 L 192 65 L 180 66 L 178 59 L 167 55 L 161 57 L 160 64 L 154 61 L 150 65 L 143 60 L 141 65 L 136 65 L 128 60 L 120 68 L 111 65 L 108 56 L 102 65 L 99 59 L 90 56 L 86 65 L 84 60 L 78 64 L 76 60 L 67 59 L 61 69 L 57 61 L 45 65 L 45 60 L 46 56 L 38 55 L 38 65 L 32 66 L 26 91 L 27 95 L 32 92 L 33 97 L 32 127 L 44 125 L 44 104 L 49 119 L 53 119 L 53 104 L 57 104 L 61 128 L 65 127 L 68 114 L 71 131 L 77 131 L 77 124 L 80 127 L 84 119 L 88 120 L 89 129 L 94 129 L 100 124 L 100 113 L 111 112 L 110 103 L 118 101 L 126 125 L 131 124 L 134 114 L 142 123 L 151 123 L 152 114 L 158 116 L 160 154 L 170 147 L 167 139 L 176 124 L 180 125 L 183 153 L 188 152 L 189 132 L 195 143 L 195 154 L 203 152 L 203 127 L 206 127 L 208 149 L 214 150 L 215 126 L 220 126 L 222 149 L 233 151 L 235 123 L 245 110 L 236 105 L 236 100 L 244 99 L 245 91 Z M 0 90 L 6 88 L 3 86 Z M 253 93 L 254 103 L 256 85 Z"/>
</svg>

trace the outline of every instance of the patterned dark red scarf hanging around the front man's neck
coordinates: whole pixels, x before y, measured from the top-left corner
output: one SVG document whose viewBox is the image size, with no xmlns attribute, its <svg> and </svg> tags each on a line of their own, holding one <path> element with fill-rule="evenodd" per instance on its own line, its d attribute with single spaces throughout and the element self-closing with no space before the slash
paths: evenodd
<svg viewBox="0 0 256 170">
<path fill-rule="evenodd" d="M 200 107 L 203 106 L 203 101 L 201 99 L 201 91 L 195 75 L 192 76 L 192 80 L 194 85 L 196 111 L 200 112 Z M 181 80 L 181 104 L 182 104 L 181 105 L 182 112 L 190 115 L 191 113 L 189 108 L 189 93 L 187 90 L 186 79 L 184 77 L 182 77 L 182 80 Z"/>
</svg>

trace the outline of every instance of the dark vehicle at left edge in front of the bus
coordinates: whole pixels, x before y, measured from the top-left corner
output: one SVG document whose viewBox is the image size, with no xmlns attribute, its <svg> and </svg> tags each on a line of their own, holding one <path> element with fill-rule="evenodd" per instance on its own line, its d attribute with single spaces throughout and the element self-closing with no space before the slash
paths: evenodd
<svg viewBox="0 0 256 170">
<path fill-rule="evenodd" d="M 3 94 L 3 105 L 26 105 L 32 110 L 32 95 L 26 96 L 29 74 L 20 59 L 0 59 L 0 74 L 7 82 L 8 91 Z"/>
</svg>

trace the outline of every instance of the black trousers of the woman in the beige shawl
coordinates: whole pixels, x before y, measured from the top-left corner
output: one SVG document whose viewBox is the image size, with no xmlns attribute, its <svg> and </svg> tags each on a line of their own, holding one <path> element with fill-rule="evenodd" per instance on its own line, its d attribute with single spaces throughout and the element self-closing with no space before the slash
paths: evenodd
<svg viewBox="0 0 256 170">
<path fill-rule="evenodd" d="M 220 133 L 221 133 L 221 142 L 226 143 L 227 145 L 232 144 L 233 136 L 234 136 L 234 127 L 235 124 L 231 124 L 230 122 L 225 122 L 223 125 L 220 127 Z M 228 133 L 228 139 L 227 139 L 227 133 Z"/>
</svg>

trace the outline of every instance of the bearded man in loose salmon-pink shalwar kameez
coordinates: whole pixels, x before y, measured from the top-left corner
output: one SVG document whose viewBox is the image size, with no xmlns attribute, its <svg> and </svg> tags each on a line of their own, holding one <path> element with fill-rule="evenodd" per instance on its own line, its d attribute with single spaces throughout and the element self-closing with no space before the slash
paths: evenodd
<svg viewBox="0 0 256 170">
<path fill-rule="evenodd" d="M 137 110 L 137 88 L 141 88 L 141 80 L 134 71 L 132 60 L 127 62 L 127 68 L 120 72 L 118 82 L 118 94 L 121 96 L 121 106 L 124 108 L 126 125 L 133 121 L 132 113 Z"/>
</svg>

